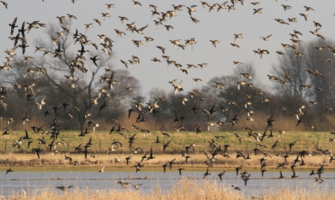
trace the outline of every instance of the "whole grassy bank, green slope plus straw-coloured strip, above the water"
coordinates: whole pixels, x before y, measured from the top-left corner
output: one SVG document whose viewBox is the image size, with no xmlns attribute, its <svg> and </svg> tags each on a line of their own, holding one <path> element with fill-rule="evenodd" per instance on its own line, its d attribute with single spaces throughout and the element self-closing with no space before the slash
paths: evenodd
<svg viewBox="0 0 335 200">
<path fill-rule="evenodd" d="M 61 141 L 61 138 L 68 141 L 68 145 L 62 141 L 64 144 L 57 145 L 57 150 L 59 153 L 52 155 L 49 151 L 48 144 L 51 143 L 52 139 L 46 134 L 33 134 L 29 131 L 29 137 L 21 144 L 21 148 L 13 147 L 12 144 L 14 140 L 18 140 L 20 137 L 24 136 L 24 131 L 10 132 L 10 134 L 3 135 L 3 139 L 0 140 L 1 154 L 0 154 L 0 165 L 2 169 L 8 169 L 10 167 L 17 170 L 27 170 L 31 169 L 32 171 L 36 170 L 36 167 L 43 168 L 45 167 L 47 171 L 66 171 L 72 170 L 77 167 L 80 167 L 80 170 L 95 171 L 98 168 L 106 165 L 107 171 L 135 171 L 135 163 L 142 160 L 142 155 L 150 151 L 150 148 L 153 151 L 153 156 L 156 157 L 153 160 L 144 161 L 143 170 L 162 170 L 162 165 L 166 162 L 170 162 L 174 158 L 175 167 L 184 167 L 188 170 L 198 170 L 202 171 L 207 168 L 207 165 L 204 164 L 204 161 L 207 160 L 206 155 L 203 151 L 206 151 L 210 154 L 213 153 L 213 149 L 209 148 L 209 141 L 213 141 L 221 146 L 229 144 L 228 151 L 225 154 L 228 154 L 230 158 L 223 157 L 219 153 L 216 155 L 216 161 L 211 162 L 213 164 L 214 170 L 218 169 L 227 169 L 234 170 L 235 167 L 239 165 L 244 165 L 245 169 L 249 170 L 260 170 L 260 159 L 265 157 L 263 153 L 268 153 L 271 157 L 266 157 L 267 169 L 276 169 L 278 163 L 285 162 L 283 157 L 276 157 L 276 154 L 288 155 L 287 166 L 290 167 L 290 164 L 294 163 L 294 160 L 297 157 L 297 154 L 300 151 L 308 151 L 314 153 L 314 156 L 308 155 L 304 157 L 304 162 L 306 165 L 296 167 L 299 169 L 315 169 L 320 167 L 320 164 L 325 164 L 325 168 L 334 169 L 334 163 L 329 163 L 329 155 L 323 157 L 323 155 L 316 151 L 317 148 L 322 148 L 323 150 L 328 149 L 330 153 L 334 151 L 334 144 L 329 144 L 329 138 L 332 137 L 332 134 L 329 132 L 285 132 L 281 134 L 281 137 L 278 137 L 278 132 L 273 132 L 274 137 L 265 137 L 264 141 L 257 142 L 253 137 L 248 137 L 246 131 L 244 132 L 201 132 L 196 134 L 195 132 L 168 132 L 170 137 L 163 138 L 161 132 L 150 132 L 147 134 L 147 137 L 144 137 L 141 132 L 124 132 L 127 139 L 117 133 L 109 134 L 109 132 L 92 132 L 87 134 L 85 137 L 78 137 L 80 132 L 71 132 L 64 131 L 61 132 L 56 141 Z M 241 143 L 239 139 L 235 137 L 234 133 L 239 134 L 243 137 Z M 133 148 L 128 147 L 128 137 L 135 135 L 135 143 L 133 148 L 142 148 L 137 154 L 133 154 L 131 160 L 129 160 L 129 165 L 126 164 L 125 158 L 131 155 Z M 269 130 L 267 131 L 269 135 Z M 161 143 L 154 143 L 157 136 L 159 137 Z M 223 139 L 216 139 L 216 136 L 223 136 Z M 39 145 L 38 139 L 45 138 L 46 144 Z M 84 145 L 87 144 L 90 137 L 92 137 L 93 145 L 90 147 L 91 151 L 87 155 L 87 159 L 84 158 L 84 153 L 75 151 L 75 147 L 79 144 L 82 144 L 82 151 L 84 150 Z M 120 141 L 123 146 L 119 146 L 115 151 L 107 154 L 108 148 L 112 147 L 112 141 Z M 271 149 L 271 146 L 278 140 L 278 146 Z M 27 148 L 27 142 L 33 141 L 30 148 Z M 54 143 L 56 143 L 54 141 Z M 170 146 L 166 148 L 166 151 L 163 152 L 163 144 L 170 142 Z M 292 146 L 292 151 L 290 151 L 288 144 L 293 141 L 297 141 L 295 146 Z M 194 151 L 189 150 L 188 155 L 191 157 L 188 159 L 188 164 L 186 161 L 181 158 L 181 153 L 186 151 L 185 147 L 189 146 L 192 143 L 197 144 Z M 267 146 L 257 146 L 262 144 Z M 31 148 L 38 148 L 43 150 L 40 153 L 40 159 L 38 159 L 36 153 L 31 152 Z M 114 146 L 115 148 L 116 146 Z M 258 148 L 258 155 L 255 155 L 253 148 Z M 54 146 L 52 147 L 54 149 Z M 243 157 L 236 158 L 238 152 L 243 152 L 245 155 L 249 154 L 251 157 L 250 160 L 244 160 Z M 94 158 L 91 155 L 98 153 L 98 157 Z M 64 162 L 64 155 L 72 157 L 78 165 L 70 165 L 70 162 Z M 149 155 L 149 154 L 148 154 Z M 121 157 L 121 162 L 114 164 L 114 158 L 117 156 Z M 301 159 L 300 159 L 301 160 Z M 22 168 L 22 169 L 20 169 Z"/>
</svg>

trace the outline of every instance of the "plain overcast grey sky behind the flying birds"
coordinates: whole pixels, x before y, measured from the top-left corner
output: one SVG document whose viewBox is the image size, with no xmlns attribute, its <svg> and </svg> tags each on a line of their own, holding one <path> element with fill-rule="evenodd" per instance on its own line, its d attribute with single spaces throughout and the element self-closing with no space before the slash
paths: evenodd
<svg viewBox="0 0 335 200">
<path fill-rule="evenodd" d="M 209 13 L 209 8 L 202 8 L 200 1 L 140 0 L 142 6 L 137 6 L 136 9 L 131 0 L 78 0 L 75 3 L 70 0 L 45 0 L 45 2 L 42 0 L 6 0 L 8 9 L 2 4 L 0 5 L 0 25 L 2 27 L 0 29 L 0 62 L 1 66 L 3 66 L 3 62 L 6 61 L 5 57 L 8 56 L 4 51 L 13 47 L 13 41 L 8 38 L 10 36 L 10 26 L 8 24 L 12 23 L 15 17 L 17 17 L 17 26 L 21 26 L 23 21 L 33 22 L 38 20 L 45 24 L 58 24 L 59 31 L 61 31 L 61 24 L 57 16 L 75 15 L 77 20 L 73 20 L 70 35 L 75 32 L 75 29 L 84 33 L 84 24 L 93 22 L 94 27 L 88 29 L 87 33 L 84 34 L 96 44 L 101 43 L 97 34 L 105 34 L 116 41 L 112 49 L 114 53 L 113 63 L 116 68 L 125 68 L 119 61 L 121 59 L 128 61 L 132 58 L 132 55 L 140 57 L 140 64 L 135 64 L 133 68 L 128 68 L 128 70 L 131 75 L 140 80 L 144 94 L 149 93 L 153 88 L 164 89 L 167 92 L 173 91 L 173 86 L 168 83 L 172 79 L 178 79 L 179 81 L 182 79 L 183 83 L 181 85 L 185 91 L 200 88 L 215 76 L 232 75 L 233 61 L 253 64 L 257 72 L 255 76 L 260 77 L 262 83 L 267 84 L 267 74 L 271 71 L 271 64 L 276 63 L 278 60 L 278 54 L 275 52 L 277 50 L 285 52 L 281 43 L 292 44 L 289 33 L 292 33 L 293 29 L 303 33 L 304 36 L 299 36 L 299 40 L 306 43 L 317 38 L 308 32 L 314 31 L 313 21 L 316 21 L 322 24 L 322 28 L 318 33 L 324 36 L 326 41 L 335 39 L 335 1 L 333 0 L 258 1 L 260 6 L 253 6 L 251 2 L 255 1 L 246 0 L 244 1 L 244 6 L 238 2 L 234 6 L 235 10 L 230 10 L 230 12 L 228 10 L 219 10 L 218 12 L 217 10 L 211 10 Z M 212 5 L 213 3 L 222 4 L 224 1 L 207 2 Z M 106 13 L 106 3 L 114 3 L 115 7 L 110 8 L 111 17 L 103 21 L 101 13 Z M 177 17 L 172 17 L 167 19 L 167 22 L 163 22 L 165 25 L 172 25 L 174 29 L 167 31 L 164 26 L 158 26 L 157 30 L 154 26 L 154 20 L 157 20 L 161 15 L 155 15 L 151 18 L 151 10 L 153 8 L 149 8 L 149 4 L 156 5 L 159 13 L 165 13 L 167 10 L 173 10 L 172 3 L 183 4 L 188 7 L 197 5 L 195 7 L 196 12 L 192 13 L 192 17 L 195 17 L 200 22 L 192 22 L 187 8 L 183 7 L 182 11 L 176 12 Z M 283 6 L 281 6 L 282 4 L 289 5 L 292 8 L 285 11 Z M 226 5 L 232 5 L 231 1 L 228 1 Z M 299 13 L 305 13 L 304 6 L 310 6 L 315 10 L 309 11 L 308 21 L 305 21 L 304 17 L 299 15 Z M 263 8 L 262 14 L 256 13 L 253 15 L 254 8 Z M 124 24 L 121 25 L 119 15 L 128 17 L 129 20 L 124 21 Z M 288 22 L 288 17 L 297 17 L 298 22 Z M 101 26 L 94 22 L 94 18 L 101 20 Z M 274 20 L 276 18 L 283 19 L 290 25 L 279 24 Z M 131 22 L 135 22 L 137 28 L 147 24 L 149 26 L 144 29 L 144 34 L 131 33 L 126 31 L 126 24 Z M 115 33 L 114 29 L 124 31 L 127 35 L 117 38 L 117 33 Z M 16 33 L 17 28 L 13 36 Z M 243 33 L 243 38 L 238 38 L 235 42 L 239 45 L 239 48 L 230 45 L 230 43 L 234 43 L 234 33 Z M 272 36 L 267 42 L 260 38 L 270 34 Z M 144 36 L 154 38 L 154 41 L 149 42 L 147 46 L 136 47 L 133 45 L 132 40 L 142 40 L 142 43 L 144 43 Z M 34 56 L 34 59 L 37 59 L 41 54 L 34 54 L 34 40 L 38 38 L 50 40 L 50 38 L 47 38 L 43 28 L 31 29 L 29 33 L 26 33 L 26 37 L 30 47 L 27 48 L 25 55 Z M 180 48 L 177 50 L 171 46 L 169 41 L 181 39 L 181 43 L 184 43 L 184 40 L 190 38 L 195 38 L 197 42 L 193 46 L 193 50 L 189 46 L 185 50 Z M 220 43 L 216 45 L 217 47 L 214 47 L 209 40 L 220 40 Z M 165 47 L 165 55 L 170 56 L 170 60 L 181 63 L 182 68 L 187 68 L 187 63 L 195 66 L 199 63 L 208 63 L 208 65 L 206 68 L 192 68 L 188 75 L 173 65 L 167 68 L 161 57 L 163 55 L 161 50 L 156 48 L 158 45 Z M 99 51 L 101 48 L 100 46 Z M 253 54 L 253 49 L 258 48 L 267 49 L 270 54 L 263 55 L 263 58 L 260 59 L 260 56 Z M 88 47 L 88 49 L 94 51 L 93 46 Z M 15 53 L 17 56 L 23 57 L 20 49 L 17 49 Z M 151 61 L 154 56 L 161 59 L 162 63 Z M 332 59 L 334 60 L 334 58 Z M 243 66 L 237 67 L 243 68 Z M 1 70 L 1 73 L 6 73 L 6 71 Z M 202 82 L 195 86 L 193 78 L 200 78 Z"/>
</svg>

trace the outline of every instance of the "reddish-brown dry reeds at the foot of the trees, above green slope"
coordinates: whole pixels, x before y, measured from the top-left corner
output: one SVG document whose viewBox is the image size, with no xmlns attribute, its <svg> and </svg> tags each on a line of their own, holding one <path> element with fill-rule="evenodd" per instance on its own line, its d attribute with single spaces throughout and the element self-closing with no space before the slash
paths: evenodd
<svg viewBox="0 0 335 200">
<path fill-rule="evenodd" d="M 273 108 L 273 109 L 278 109 L 278 107 Z M 220 128 L 214 129 L 216 131 L 239 131 L 239 130 L 243 130 L 243 127 L 249 127 L 252 130 L 264 130 L 267 123 L 267 118 L 269 118 L 270 114 L 265 114 L 262 112 L 256 112 L 253 115 L 253 118 L 255 118 L 255 121 L 247 121 L 246 114 L 239 114 L 239 123 L 234 125 L 234 128 L 231 128 L 230 123 L 226 122 L 225 125 L 221 126 Z M 131 125 L 134 123 L 135 125 L 139 125 L 140 128 L 143 129 L 147 129 L 147 130 L 151 130 L 151 131 L 169 131 L 169 132 L 173 132 L 174 126 L 175 125 L 179 125 L 178 123 L 172 123 L 172 121 L 174 120 L 174 116 L 165 116 L 163 118 L 154 118 L 153 116 L 150 115 L 145 115 L 145 123 L 134 123 L 134 121 L 136 121 L 137 118 L 137 114 L 132 114 L 131 118 L 128 119 L 128 115 L 127 114 L 120 114 L 117 118 L 118 121 L 121 122 L 121 124 L 128 128 L 129 130 L 131 129 Z M 274 114 L 274 118 L 275 118 L 275 122 L 274 122 L 274 130 L 279 130 L 279 129 L 285 129 L 288 131 L 295 131 L 295 132 L 300 132 L 300 131 L 311 131 L 310 128 L 308 128 L 307 124 L 313 124 L 316 125 L 317 130 L 318 131 L 333 131 L 335 130 L 335 124 L 333 123 L 333 121 L 335 120 L 335 116 L 332 112 L 329 111 L 322 111 L 322 113 L 320 114 L 320 112 L 318 113 L 311 113 L 311 115 L 309 115 L 308 117 L 304 117 L 304 123 L 302 123 L 302 125 L 299 125 L 297 127 L 295 127 L 295 125 L 297 124 L 297 118 L 295 117 L 294 114 L 281 114 L 281 112 Z M 220 119 L 218 119 L 220 120 Z M 214 122 L 216 120 L 213 120 Z M 210 121 L 207 120 L 207 118 L 195 118 L 192 121 L 188 121 L 186 120 L 183 125 L 184 127 L 186 127 L 186 130 L 191 131 L 193 130 L 193 127 L 195 125 L 200 126 L 202 129 L 206 129 L 207 128 L 207 124 Z M 50 123 L 50 121 L 45 121 L 45 118 L 32 118 L 31 119 L 31 123 L 29 123 L 29 125 L 41 125 L 41 124 L 48 124 Z M 76 125 L 71 125 L 70 121 L 64 121 L 63 123 L 68 123 L 68 125 L 64 125 L 66 127 L 70 127 L 73 128 Z M 98 131 L 105 131 L 107 132 L 108 130 L 110 130 L 110 128 L 112 128 L 113 125 L 118 125 L 115 123 L 111 123 L 110 120 L 105 120 L 102 119 L 99 121 L 99 123 L 101 124 L 97 130 Z M 23 125 L 22 123 L 15 123 L 15 125 L 8 125 L 6 124 L 6 121 L 0 121 L 0 126 L 1 127 L 6 127 L 8 126 L 8 128 L 10 128 L 13 131 L 20 131 L 20 130 L 24 130 L 24 128 L 27 128 L 27 125 Z M 68 132 L 70 130 L 66 130 L 66 132 Z M 77 130 L 77 132 L 80 132 L 80 130 Z"/>
</svg>

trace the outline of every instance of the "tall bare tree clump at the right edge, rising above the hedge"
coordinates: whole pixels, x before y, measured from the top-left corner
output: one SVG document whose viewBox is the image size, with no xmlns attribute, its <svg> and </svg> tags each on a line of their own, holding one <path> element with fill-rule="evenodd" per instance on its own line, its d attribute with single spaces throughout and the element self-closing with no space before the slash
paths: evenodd
<svg viewBox="0 0 335 200">
<path fill-rule="evenodd" d="M 334 106 L 334 64 L 327 59 L 334 57 L 332 49 L 334 42 L 313 40 L 299 45 L 297 50 L 288 49 L 286 55 L 279 56 L 277 65 L 272 66 L 276 77 L 283 78 L 285 72 L 291 77 L 288 84 L 276 84 L 275 89 L 287 99 L 300 98 L 315 103 L 313 107 L 320 110 Z M 295 102 L 292 102 L 295 103 Z"/>
</svg>

